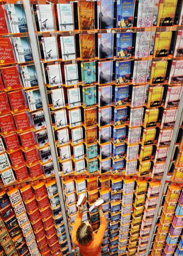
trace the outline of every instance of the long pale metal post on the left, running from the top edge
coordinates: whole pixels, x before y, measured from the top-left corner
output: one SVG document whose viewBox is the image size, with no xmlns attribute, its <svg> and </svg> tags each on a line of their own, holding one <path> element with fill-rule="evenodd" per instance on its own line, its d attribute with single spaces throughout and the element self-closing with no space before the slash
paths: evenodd
<svg viewBox="0 0 183 256">
<path fill-rule="evenodd" d="M 51 120 L 50 120 L 48 98 L 46 96 L 46 88 L 44 85 L 44 78 L 42 75 L 42 68 L 41 68 L 41 63 L 40 63 L 39 48 L 37 45 L 37 39 L 36 39 L 36 35 L 35 35 L 35 27 L 33 24 L 31 3 L 29 0 L 23 0 L 23 4 L 24 4 L 24 9 L 25 9 L 25 16 L 27 18 L 27 27 L 28 27 L 28 32 L 29 32 L 29 40 L 30 40 L 31 48 L 32 48 L 33 60 L 35 62 L 35 67 L 36 67 L 36 72 L 37 72 L 37 80 L 39 83 L 39 89 L 40 89 L 40 94 L 41 94 L 41 98 L 42 98 L 42 108 L 44 110 L 44 115 L 45 115 L 46 130 L 47 130 L 48 138 L 49 138 L 49 144 L 50 144 L 50 150 L 51 150 L 51 154 L 52 154 L 54 172 L 55 172 L 56 181 L 57 181 L 59 199 L 61 201 L 61 209 L 62 209 L 63 221 L 64 221 L 64 225 L 65 225 L 65 230 L 66 230 L 67 242 L 68 242 L 68 246 L 69 246 L 69 251 L 71 253 L 72 249 L 71 249 L 70 234 L 69 234 L 69 228 L 67 225 L 67 217 L 66 217 L 66 211 L 65 211 L 65 203 L 63 200 L 61 181 L 59 178 L 59 168 L 58 168 L 58 162 L 57 162 L 56 147 L 54 144 L 53 130 L 52 130 L 52 125 L 51 125 Z"/>
</svg>

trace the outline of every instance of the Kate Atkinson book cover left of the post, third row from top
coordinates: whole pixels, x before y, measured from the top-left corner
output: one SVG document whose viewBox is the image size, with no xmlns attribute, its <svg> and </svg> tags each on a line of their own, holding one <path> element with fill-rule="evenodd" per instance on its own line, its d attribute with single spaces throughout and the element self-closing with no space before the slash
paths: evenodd
<svg viewBox="0 0 183 256">
<path fill-rule="evenodd" d="M 31 88 L 38 85 L 35 65 L 19 66 L 24 88 Z"/>
</svg>

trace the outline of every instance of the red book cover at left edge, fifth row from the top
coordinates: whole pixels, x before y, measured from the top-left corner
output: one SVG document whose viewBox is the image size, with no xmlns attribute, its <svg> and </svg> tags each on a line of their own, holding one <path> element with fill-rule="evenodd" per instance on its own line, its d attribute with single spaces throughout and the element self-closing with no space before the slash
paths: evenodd
<svg viewBox="0 0 183 256">
<path fill-rule="evenodd" d="M 0 128 L 2 134 L 8 134 L 16 130 L 11 113 L 0 116 Z"/>
</svg>

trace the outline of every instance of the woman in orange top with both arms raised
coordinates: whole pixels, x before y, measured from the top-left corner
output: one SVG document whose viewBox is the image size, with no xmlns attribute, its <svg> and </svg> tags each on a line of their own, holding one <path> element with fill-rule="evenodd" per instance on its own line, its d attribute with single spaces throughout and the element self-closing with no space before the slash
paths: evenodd
<svg viewBox="0 0 183 256">
<path fill-rule="evenodd" d="M 82 223 L 83 205 L 78 206 L 78 212 L 75 217 L 75 224 L 72 232 L 72 240 L 79 247 L 78 256 L 100 256 L 100 245 L 103 241 L 104 232 L 107 227 L 107 221 L 101 208 L 98 207 L 100 215 L 100 227 L 97 233 L 94 233 L 92 226 L 88 221 Z"/>
</svg>

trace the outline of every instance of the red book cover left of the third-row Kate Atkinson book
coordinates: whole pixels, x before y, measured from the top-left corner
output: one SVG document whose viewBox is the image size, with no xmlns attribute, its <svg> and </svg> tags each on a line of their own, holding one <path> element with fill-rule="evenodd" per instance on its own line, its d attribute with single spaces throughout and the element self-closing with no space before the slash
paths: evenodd
<svg viewBox="0 0 183 256">
<path fill-rule="evenodd" d="M 16 66 L 2 68 L 1 73 L 6 90 L 14 90 L 21 88 L 19 73 L 17 71 Z"/>
</svg>

